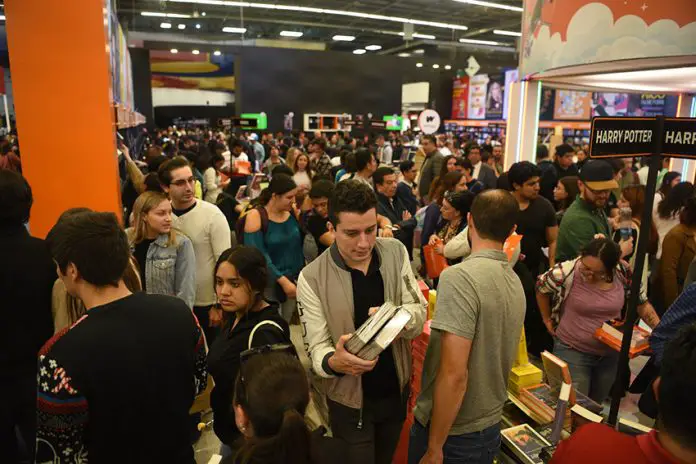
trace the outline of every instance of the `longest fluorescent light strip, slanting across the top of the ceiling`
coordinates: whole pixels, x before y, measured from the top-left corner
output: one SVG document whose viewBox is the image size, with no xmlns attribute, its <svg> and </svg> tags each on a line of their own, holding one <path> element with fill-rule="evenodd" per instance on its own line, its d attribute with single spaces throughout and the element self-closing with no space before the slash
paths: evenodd
<svg viewBox="0 0 696 464">
<path fill-rule="evenodd" d="M 215 5 L 215 6 L 231 6 L 237 8 L 257 8 L 262 10 L 280 10 L 294 11 L 297 13 L 324 14 L 332 16 L 348 16 L 352 18 L 373 19 L 375 21 L 386 21 L 401 24 L 413 24 L 416 26 L 437 27 L 440 29 L 451 29 L 455 31 L 466 31 L 468 28 L 461 24 L 441 23 L 436 21 L 423 21 L 420 19 L 401 18 L 398 16 L 387 16 L 372 13 L 362 13 L 359 11 L 347 10 L 332 10 L 327 8 L 316 8 L 299 5 L 280 5 L 276 3 L 255 3 L 255 2 L 240 2 L 231 0 L 169 0 L 170 3 L 188 3 L 193 5 Z M 516 7 L 510 7 L 516 8 Z M 522 8 L 520 8 L 522 11 Z M 205 13 L 201 13 L 205 16 Z"/>
</svg>

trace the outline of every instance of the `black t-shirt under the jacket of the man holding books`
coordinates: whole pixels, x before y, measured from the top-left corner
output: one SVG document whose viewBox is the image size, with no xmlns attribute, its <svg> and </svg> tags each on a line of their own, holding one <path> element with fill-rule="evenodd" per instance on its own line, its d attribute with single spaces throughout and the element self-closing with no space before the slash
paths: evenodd
<svg viewBox="0 0 696 464">
<path fill-rule="evenodd" d="M 368 319 L 370 308 L 384 304 L 384 281 L 379 271 L 379 255 L 372 252 L 372 261 L 367 275 L 351 269 L 353 283 L 353 306 L 355 308 L 355 327 L 358 328 Z M 363 394 L 366 398 L 387 398 L 400 395 L 399 380 L 391 346 L 379 355 L 375 368 L 362 375 Z"/>
</svg>

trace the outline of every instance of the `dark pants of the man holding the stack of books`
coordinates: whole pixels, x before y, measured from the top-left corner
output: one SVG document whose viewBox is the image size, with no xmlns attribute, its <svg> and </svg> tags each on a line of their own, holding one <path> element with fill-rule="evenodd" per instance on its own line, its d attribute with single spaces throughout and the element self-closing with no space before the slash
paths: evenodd
<svg viewBox="0 0 696 464">
<path fill-rule="evenodd" d="M 328 400 L 331 432 L 348 445 L 350 464 L 391 464 L 406 420 L 408 394 L 405 391 L 401 396 L 380 400 L 365 398 L 362 426 L 361 410 Z"/>
</svg>

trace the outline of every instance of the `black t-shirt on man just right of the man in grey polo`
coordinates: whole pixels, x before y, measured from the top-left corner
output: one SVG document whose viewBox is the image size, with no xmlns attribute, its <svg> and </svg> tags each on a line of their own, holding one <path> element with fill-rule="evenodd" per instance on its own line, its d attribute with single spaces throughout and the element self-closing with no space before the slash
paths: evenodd
<svg viewBox="0 0 696 464">
<path fill-rule="evenodd" d="M 548 246 L 546 229 L 556 225 L 556 211 L 546 198 L 539 196 L 529 206 L 519 212 L 517 233 L 522 235 L 522 254 L 524 263 L 534 276 L 539 273 L 543 259 L 542 248 Z"/>
</svg>

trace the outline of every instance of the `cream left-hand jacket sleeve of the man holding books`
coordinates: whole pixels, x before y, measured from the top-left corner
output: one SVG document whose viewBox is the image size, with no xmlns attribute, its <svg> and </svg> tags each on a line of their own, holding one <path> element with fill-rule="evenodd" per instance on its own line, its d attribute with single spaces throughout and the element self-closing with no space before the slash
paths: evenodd
<svg viewBox="0 0 696 464">
<path fill-rule="evenodd" d="M 336 351 L 329 326 L 324 318 L 321 301 L 312 287 L 300 273 L 297 280 L 297 307 L 302 321 L 305 350 L 309 356 L 312 370 L 325 378 L 335 377 L 326 368 L 324 360 Z"/>
</svg>

